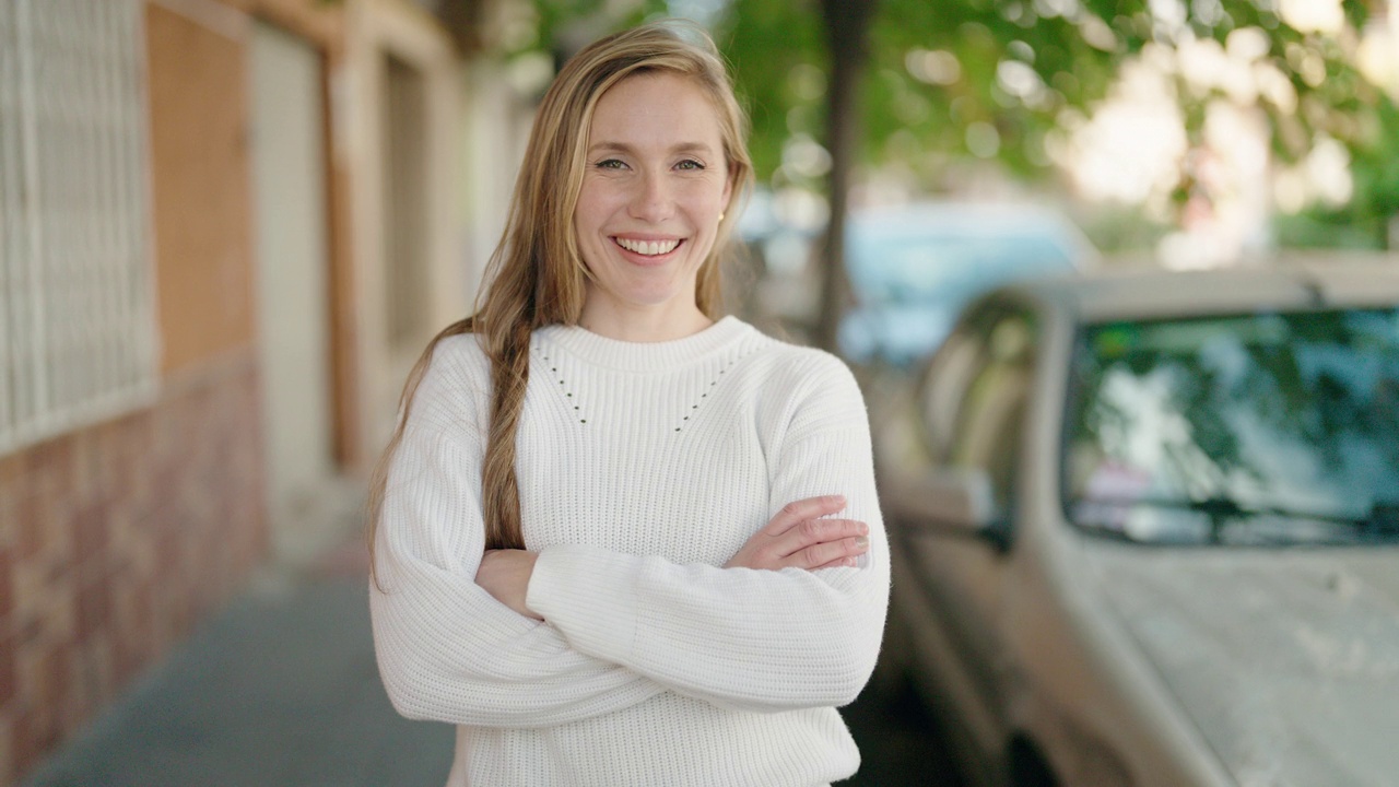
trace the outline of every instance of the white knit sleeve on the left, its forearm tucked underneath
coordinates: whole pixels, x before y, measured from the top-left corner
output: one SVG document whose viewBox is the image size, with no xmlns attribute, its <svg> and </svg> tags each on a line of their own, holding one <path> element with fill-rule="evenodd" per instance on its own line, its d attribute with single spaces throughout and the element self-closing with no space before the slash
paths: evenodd
<svg viewBox="0 0 1399 787">
<path fill-rule="evenodd" d="M 416 409 L 450 410 L 432 402 L 441 384 L 429 371 Z M 515 613 L 476 584 L 485 541 L 481 447 L 464 431 L 410 417 L 392 458 L 369 608 L 395 709 L 453 724 L 546 727 L 663 692 L 579 653 L 554 626 Z"/>
</svg>

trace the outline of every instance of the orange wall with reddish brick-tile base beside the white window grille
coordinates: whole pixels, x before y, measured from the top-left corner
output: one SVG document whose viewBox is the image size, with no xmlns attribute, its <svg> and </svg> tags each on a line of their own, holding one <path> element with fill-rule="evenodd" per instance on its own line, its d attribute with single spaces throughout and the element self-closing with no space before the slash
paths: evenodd
<svg viewBox="0 0 1399 787">
<path fill-rule="evenodd" d="M 147 408 L 0 457 L 0 784 L 267 552 L 243 15 L 144 11 L 161 379 Z"/>
</svg>

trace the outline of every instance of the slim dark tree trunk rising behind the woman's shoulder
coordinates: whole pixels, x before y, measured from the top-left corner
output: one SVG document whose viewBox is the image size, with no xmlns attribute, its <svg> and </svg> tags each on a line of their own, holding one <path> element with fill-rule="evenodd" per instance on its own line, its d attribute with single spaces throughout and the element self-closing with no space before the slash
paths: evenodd
<svg viewBox="0 0 1399 787">
<path fill-rule="evenodd" d="M 831 154 L 831 218 L 821 244 L 821 301 L 816 315 L 817 346 L 835 351 L 841 315 L 849 305 L 845 274 L 845 213 L 851 171 L 859 155 L 859 83 L 867 60 L 866 32 L 876 0 L 821 0 L 821 20 L 831 50 L 825 148 Z"/>
</svg>

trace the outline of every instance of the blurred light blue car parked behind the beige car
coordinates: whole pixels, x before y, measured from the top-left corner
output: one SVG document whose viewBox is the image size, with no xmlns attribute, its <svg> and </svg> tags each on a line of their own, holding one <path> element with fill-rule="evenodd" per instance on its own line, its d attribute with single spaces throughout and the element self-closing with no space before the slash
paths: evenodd
<svg viewBox="0 0 1399 787">
<path fill-rule="evenodd" d="M 851 214 L 845 258 L 858 305 L 841 321 L 842 354 L 902 367 L 930 356 L 977 295 L 1091 267 L 1098 252 L 1046 207 L 933 202 Z"/>
</svg>

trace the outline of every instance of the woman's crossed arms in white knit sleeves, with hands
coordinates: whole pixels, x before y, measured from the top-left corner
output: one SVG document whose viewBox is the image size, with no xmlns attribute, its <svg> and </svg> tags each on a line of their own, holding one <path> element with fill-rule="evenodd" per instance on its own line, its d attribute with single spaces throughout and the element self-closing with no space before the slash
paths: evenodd
<svg viewBox="0 0 1399 787">
<path fill-rule="evenodd" d="M 863 406 L 848 385 L 853 405 L 834 406 L 853 406 L 852 417 L 789 430 L 771 483 L 789 506 L 725 566 L 590 546 L 487 555 L 480 447 L 410 419 L 378 531 L 383 592 L 371 594 L 397 710 L 548 727 L 666 690 L 757 711 L 851 702 L 879 651 L 888 563 Z M 821 494 L 837 486 L 844 501 Z M 821 518 L 842 503 L 851 518 Z"/>
</svg>

